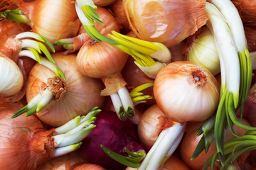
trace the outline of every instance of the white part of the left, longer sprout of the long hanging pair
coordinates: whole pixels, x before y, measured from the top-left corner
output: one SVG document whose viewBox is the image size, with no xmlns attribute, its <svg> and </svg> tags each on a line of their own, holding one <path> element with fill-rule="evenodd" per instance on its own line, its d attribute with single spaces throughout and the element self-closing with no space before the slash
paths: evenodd
<svg viewBox="0 0 256 170">
<path fill-rule="evenodd" d="M 210 18 L 211 24 L 207 26 L 214 35 L 219 57 L 223 58 L 220 59 L 220 70 L 223 72 L 225 69 L 227 89 L 233 94 L 234 104 L 237 106 L 240 89 L 240 61 L 235 42 L 225 18 L 217 7 L 208 2 L 206 2 L 206 16 Z M 222 61 L 223 64 L 221 64 Z"/>
</svg>

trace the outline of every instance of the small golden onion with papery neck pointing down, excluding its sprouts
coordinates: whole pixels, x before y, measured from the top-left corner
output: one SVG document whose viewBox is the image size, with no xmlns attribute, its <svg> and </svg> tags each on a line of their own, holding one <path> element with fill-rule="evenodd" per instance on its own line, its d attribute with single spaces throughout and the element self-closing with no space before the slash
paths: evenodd
<svg viewBox="0 0 256 170">
<path fill-rule="evenodd" d="M 102 79 L 106 89 L 101 94 L 108 96 L 125 86 L 121 71 L 127 58 L 126 53 L 107 42 L 90 40 L 81 47 L 76 61 L 82 74 Z"/>
</svg>

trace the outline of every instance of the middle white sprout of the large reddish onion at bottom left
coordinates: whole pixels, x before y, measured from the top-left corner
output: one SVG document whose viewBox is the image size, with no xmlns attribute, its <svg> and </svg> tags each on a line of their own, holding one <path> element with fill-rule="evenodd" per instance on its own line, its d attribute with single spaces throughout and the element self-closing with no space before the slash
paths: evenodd
<svg viewBox="0 0 256 170">
<path fill-rule="evenodd" d="M 80 141 L 84 140 L 85 137 L 90 135 L 90 132 L 92 132 L 93 128 L 95 128 L 95 127 L 96 127 L 96 125 L 90 124 L 90 125 L 86 125 L 80 131 L 75 132 L 73 134 L 55 135 L 52 137 L 55 141 L 55 147 L 65 147 L 65 146 L 73 145 L 77 142 L 80 142 Z M 58 138 L 60 138 L 61 140 Z"/>
</svg>

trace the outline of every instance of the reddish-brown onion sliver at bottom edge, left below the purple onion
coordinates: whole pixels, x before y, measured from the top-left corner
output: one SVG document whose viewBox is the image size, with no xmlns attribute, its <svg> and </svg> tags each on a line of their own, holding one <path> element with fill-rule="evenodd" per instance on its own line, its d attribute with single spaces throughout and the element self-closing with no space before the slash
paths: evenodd
<svg viewBox="0 0 256 170">
<path fill-rule="evenodd" d="M 78 151 L 64 154 L 60 157 L 54 157 L 47 162 L 39 165 L 37 170 L 70 170 L 72 167 L 85 164 L 86 161 Z"/>
</svg>

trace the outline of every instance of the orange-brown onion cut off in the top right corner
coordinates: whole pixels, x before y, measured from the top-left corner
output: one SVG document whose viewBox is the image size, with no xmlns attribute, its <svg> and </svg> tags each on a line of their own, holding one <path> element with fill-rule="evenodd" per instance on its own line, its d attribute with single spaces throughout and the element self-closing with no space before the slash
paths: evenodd
<svg viewBox="0 0 256 170">
<path fill-rule="evenodd" d="M 251 0 L 231 0 L 236 8 L 238 8 L 240 17 L 244 23 L 255 25 L 256 23 L 256 2 Z"/>
</svg>

